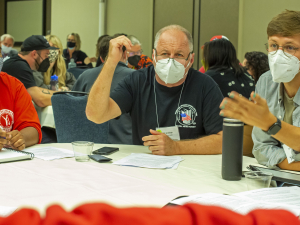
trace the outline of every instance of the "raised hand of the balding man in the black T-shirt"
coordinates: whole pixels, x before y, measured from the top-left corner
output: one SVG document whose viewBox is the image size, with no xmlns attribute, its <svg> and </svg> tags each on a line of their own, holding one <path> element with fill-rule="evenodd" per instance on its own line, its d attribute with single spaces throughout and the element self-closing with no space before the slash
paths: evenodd
<svg viewBox="0 0 300 225">
<path fill-rule="evenodd" d="M 126 49 L 131 49 L 131 41 L 125 36 L 119 36 L 117 38 L 111 39 L 109 42 L 109 51 L 107 60 L 118 64 L 123 55 L 123 46 Z"/>
</svg>

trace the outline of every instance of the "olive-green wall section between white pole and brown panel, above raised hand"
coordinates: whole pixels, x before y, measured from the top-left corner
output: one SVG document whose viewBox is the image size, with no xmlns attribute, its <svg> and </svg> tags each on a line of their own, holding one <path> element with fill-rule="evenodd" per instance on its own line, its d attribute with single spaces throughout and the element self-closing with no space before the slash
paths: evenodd
<svg viewBox="0 0 300 225">
<path fill-rule="evenodd" d="M 152 54 L 153 0 L 106 0 L 106 33 L 136 36 L 146 55 Z"/>
</svg>

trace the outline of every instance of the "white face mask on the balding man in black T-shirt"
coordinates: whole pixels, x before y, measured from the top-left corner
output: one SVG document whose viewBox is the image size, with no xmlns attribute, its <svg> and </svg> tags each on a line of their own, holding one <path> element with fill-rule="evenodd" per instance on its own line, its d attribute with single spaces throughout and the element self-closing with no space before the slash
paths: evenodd
<svg viewBox="0 0 300 225">
<path fill-rule="evenodd" d="M 155 72 L 159 78 L 166 84 L 175 84 L 180 81 L 185 76 L 185 69 L 190 65 L 190 62 L 186 67 L 181 63 L 177 62 L 172 58 L 161 59 L 156 61 L 155 56 L 154 60 L 156 66 L 154 67 Z"/>
</svg>

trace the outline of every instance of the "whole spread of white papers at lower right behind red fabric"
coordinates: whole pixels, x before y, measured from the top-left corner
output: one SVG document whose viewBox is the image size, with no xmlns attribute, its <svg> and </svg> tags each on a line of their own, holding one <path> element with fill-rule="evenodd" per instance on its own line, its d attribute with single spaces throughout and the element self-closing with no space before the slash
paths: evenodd
<svg viewBox="0 0 300 225">
<path fill-rule="evenodd" d="M 300 188 L 280 187 L 246 191 L 234 195 L 206 193 L 173 200 L 171 203 L 183 205 L 198 203 L 220 206 L 237 213 L 247 214 L 254 209 L 284 209 L 300 215 Z"/>
</svg>

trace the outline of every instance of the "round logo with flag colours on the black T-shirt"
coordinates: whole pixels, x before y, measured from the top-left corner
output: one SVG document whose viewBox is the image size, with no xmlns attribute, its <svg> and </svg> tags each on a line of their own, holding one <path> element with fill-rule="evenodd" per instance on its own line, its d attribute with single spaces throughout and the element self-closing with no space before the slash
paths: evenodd
<svg viewBox="0 0 300 225">
<path fill-rule="evenodd" d="M 195 128 L 196 126 L 196 109 L 188 104 L 181 105 L 175 112 L 176 125 L 178 127 Z"/>
</svg>

